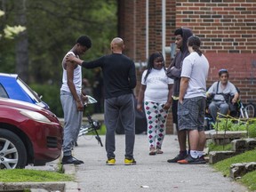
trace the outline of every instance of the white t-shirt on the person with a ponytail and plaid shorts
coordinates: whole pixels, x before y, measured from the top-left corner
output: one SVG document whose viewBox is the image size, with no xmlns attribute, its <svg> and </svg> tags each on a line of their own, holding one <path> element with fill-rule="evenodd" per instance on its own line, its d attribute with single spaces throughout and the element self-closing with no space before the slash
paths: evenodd
<svg viewBox="0 0 256 192">
<path fill-rule="evenodd" d="M 209 62 L 197 52 L 191 52 L 184 60 L 181 77 L 188 77 L 188 89 L 184 98 L 206 97 L 206 79 L 209 71 Z"/>
</svg>

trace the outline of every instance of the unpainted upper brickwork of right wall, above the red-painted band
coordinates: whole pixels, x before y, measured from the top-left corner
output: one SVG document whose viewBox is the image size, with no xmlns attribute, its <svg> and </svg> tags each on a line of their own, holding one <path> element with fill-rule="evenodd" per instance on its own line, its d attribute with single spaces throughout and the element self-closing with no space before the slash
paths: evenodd
<svg viewBox="0 0 256 192">
<path fill-rule="evenodd" d="M 176 26 L 193 28 L 207 52 L 256 53 L 254 0 L 180 0 Z"/>
</svg>

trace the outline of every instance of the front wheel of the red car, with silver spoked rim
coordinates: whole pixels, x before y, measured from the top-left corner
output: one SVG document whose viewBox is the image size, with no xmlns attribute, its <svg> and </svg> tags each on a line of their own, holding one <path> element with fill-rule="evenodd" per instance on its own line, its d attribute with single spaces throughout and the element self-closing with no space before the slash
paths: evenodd
<svg viewBox="0 0 256 192">
<path fill-rule="evenodd" d="M 0 129 L 0 169 L 24 168 L 27 151 L 20 138 L 13 132 Z"/>
</svg>

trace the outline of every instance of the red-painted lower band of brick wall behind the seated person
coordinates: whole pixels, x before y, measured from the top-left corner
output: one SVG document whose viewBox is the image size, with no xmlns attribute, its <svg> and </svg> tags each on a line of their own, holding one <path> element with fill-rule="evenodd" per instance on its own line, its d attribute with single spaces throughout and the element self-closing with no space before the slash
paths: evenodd
<svg viewBox="0 0 256 192">
<path fill-rule="evenodd" d="M 256 54 L 253 53 L 205 53 L 210 62 L 208 84 L 219 79 L 220 68 L 227 68 L 229 80 L 241 92 L 244 103 L 256 103 Z"/>
</svg>

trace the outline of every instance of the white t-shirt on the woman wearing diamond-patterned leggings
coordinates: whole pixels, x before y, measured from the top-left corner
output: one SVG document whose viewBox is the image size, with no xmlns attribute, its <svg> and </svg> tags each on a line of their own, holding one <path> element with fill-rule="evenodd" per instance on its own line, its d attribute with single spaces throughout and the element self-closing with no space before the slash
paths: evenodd
<svg viewBox="0 0 256 192">
<path fill-rule="evenodd" d="M 173 84 L 173 79 L 166 76 L 164 68 L 160 70 L 152 68 L 145 82 L 147 71 L 145 70 L 141 77 L 141 84 L 147 86 L 144 101 L 165 103 L 168 100 L 168 84 Z"/>
</svg>

